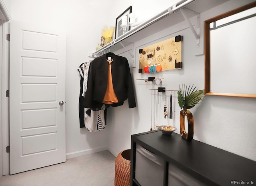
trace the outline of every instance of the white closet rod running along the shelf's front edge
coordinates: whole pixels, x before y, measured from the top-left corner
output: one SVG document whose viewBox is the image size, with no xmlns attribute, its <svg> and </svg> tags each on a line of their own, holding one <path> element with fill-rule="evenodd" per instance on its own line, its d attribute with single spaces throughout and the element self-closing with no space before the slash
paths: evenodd
<svg viewBox="0 0 256 186">
<path fill-rule="evenodd" d="M 164 11 L 152 16 L 151 18 L 149 18 L 148 20 L 142 22 L 141 24 L 139 24 L 138 26 L 134 27 L 133 29 L 129 30 L 128 32 L 126 32 L 125 34 L 123 34 L 122 36 L 116 38 L 115 40 L 113 40 L 112 42 L 108 43 L 107 45 L 103 46 L 102 48 L 98 49 L 97 51 L 95 51 L 92 55 L 94 56 L 95 54 L 99 53 L 100 51 L 104 51 L 106 48 L 113 46 L 114 44 L 130 37 L 132 34 L 135 34 L 136 32 L 146 28 L 147 26 L 149 26 L 150 24 L 168 16 L 169 14 L 172 14 L 178 10 L 180 10 L 181 8 L 184 8 L 185 6 L 187 6 L 188 4 L 194 2 L 196 0 L 180 0 L 179 2 L 177 2 L 176 4 L 174 4 L 173 6 L 170 6 L 168 8 L 166 8 Z M 177 6 L 178 5 L 178 6 Z M 134 23 L 136 24 L 136 23 Z M 132 26 L 132 25 L 130 25 Z"/>
</svg>

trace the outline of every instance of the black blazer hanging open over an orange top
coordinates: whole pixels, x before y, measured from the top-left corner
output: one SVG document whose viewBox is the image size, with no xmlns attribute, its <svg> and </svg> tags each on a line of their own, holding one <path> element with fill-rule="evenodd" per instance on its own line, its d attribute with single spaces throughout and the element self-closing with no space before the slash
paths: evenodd
<svg viewBox="0 0 256 186">
<path fill-rule="evenodd" d="M 102 106 L 108 83 L 107 59 L 109 56 L 113 59 L 111 62 L 112 81 L 118 99 L 118 103 L 112 106 L 123 105 L 123 102 L 129 98 L 129 108 L 136 107 L 129 63 L 125 57 L 111 52 L 94 59 L 90 64 L 84 107 L 99 110 Z"/>
</svg>

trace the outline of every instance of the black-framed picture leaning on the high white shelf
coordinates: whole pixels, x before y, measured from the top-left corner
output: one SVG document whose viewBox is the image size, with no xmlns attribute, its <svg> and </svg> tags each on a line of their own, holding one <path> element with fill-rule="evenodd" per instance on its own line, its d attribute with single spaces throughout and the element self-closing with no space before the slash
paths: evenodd
<svg viewBox="0 0 256 186">
<path fill-rule="evenodd" d="M 124 10 L 124 12 L 116 18 L 115 39 L 122 36 L 123 34 L 125 34 L 131 29 L 131 27 L 128 26 L 130 13 L 132 13 L 132 6 Z M 126 16 L 126 18 L 123 16 Z M 127 20 L 124 20 L 124 19 L 127 19 Z M 123 27 L 121 26 L 122 21 L 127 23 L 126 26 L 123 26 Z"/>
</svg>

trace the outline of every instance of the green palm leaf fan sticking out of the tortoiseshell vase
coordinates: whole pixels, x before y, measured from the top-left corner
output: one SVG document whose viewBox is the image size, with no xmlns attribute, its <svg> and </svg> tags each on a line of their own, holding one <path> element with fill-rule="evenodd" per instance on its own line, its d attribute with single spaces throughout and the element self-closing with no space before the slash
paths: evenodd
<svg viewBox="0 0 256 186">
<path fill-rule="evenodd" d="M 204 96 L 204 90 L 196 89 L 196 86 L 184 85 L 182 84 L 180 90 L 178 91 L 178 103 L 181 109 L 186 112 L 187 109 L 191 109 L 202 99 Z"/>
</svg>

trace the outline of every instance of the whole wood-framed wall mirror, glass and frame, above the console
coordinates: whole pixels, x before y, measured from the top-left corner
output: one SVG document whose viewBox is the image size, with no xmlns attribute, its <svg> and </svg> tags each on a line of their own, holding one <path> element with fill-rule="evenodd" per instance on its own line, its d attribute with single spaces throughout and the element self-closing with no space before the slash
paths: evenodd
<svg viewBox="0 0 256 186">
<path fill-rule="evenodd" d="M 205 94 L 256 98 L 256 2 L 204 22 Z"/>
</svg>

